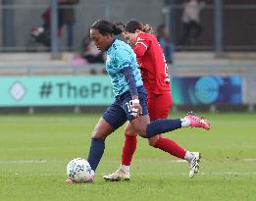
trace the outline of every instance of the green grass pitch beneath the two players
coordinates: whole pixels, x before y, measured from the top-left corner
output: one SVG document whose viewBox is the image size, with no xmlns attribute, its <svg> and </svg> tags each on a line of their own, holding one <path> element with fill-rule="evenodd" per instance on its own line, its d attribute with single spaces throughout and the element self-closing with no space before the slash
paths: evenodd
<svg viewBox="0 0 256 201">
<path fill-rule="evenodd" d="M 175 114 L 173 117 L 180 117 Z M 105 182 L 120 164 L 120 128 L 106 140 L 94 183 L 67 185 L 66 166 L 86 157 L 100 115 L 0 116 L 0 200 L 256 200 L 256 114 L 205 114 L 212 129 L 167 136 L 203 155 L 200 174 L 139 138 L 131 180 Z"/>
</svg>

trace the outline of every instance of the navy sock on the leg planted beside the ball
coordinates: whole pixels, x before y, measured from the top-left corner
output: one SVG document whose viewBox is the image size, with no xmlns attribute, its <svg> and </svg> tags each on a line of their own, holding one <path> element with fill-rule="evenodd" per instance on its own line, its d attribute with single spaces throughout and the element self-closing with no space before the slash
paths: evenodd
<svg viewBox="0 0 256 201">
<path fill-rule="evenodd" d="M 91 138 L 90 151 L 88 155 L 88 163 L 95 172 L 105 149 L 105 139 Z"/>
</svg>

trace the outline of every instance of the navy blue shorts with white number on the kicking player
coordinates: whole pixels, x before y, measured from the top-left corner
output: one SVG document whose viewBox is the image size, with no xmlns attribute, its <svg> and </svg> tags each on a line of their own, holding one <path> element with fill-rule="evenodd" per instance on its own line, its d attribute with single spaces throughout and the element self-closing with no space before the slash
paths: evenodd
<svg viewBox="0 0 256 201">
<path fill-rule="evenodd" d="M 142 116 L 147 115 L 147 94 L 144 86 L 138 86 L 137 92 L 139 104 L 142 107 Z M 115 129 L 123 126 L 127 121 L 132 121 L 134 118 L 131 115 L 131 100 L 129 91 L 117 96 L 115 102 L 107 109 L 102 118 Z"/>
</svg>

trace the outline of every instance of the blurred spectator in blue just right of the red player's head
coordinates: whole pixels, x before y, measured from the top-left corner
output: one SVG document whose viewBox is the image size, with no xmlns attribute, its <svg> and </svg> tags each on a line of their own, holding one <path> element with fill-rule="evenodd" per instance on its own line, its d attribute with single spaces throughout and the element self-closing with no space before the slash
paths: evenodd
<svg viewBox="0 0 256 201">
<path fill-rule="evenodd" d="M 170 37 L 167 35 L 166 25 L 159 25 L 157 27 L 157 39 L 163 48 L 164 55 L 167 63 L 173 62 L 174 44 Z"/>
</svg>

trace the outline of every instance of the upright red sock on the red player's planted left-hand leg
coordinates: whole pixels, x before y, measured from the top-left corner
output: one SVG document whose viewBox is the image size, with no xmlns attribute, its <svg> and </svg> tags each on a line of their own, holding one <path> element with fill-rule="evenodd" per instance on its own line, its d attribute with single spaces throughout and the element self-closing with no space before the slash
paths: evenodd
<svg viewBox="0 0 256 201">
<path fill-rule="evenodd" d="M 126 165 L 126 166 L 130 165 L 136 146 L 137 146 L 137 136 L 126 135 L 126 140 L 125 140 L 123 153 L 122 153 L 122 165 Z"/>
</svg>

